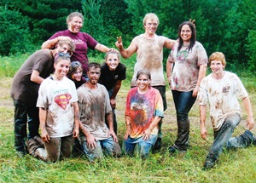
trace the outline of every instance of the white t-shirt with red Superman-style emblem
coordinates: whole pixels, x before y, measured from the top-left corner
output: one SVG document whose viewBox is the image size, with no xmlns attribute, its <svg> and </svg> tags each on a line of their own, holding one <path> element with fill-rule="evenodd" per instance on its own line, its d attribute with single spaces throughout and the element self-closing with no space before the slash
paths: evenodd
<svg viewBox="0 0 256 183">
<path fill-rule="evenodd" d="M 55 81 L 52 77 L 41 83 L 38 91 L 38 107 L 47 110 L 46 131 L 49 137 L 63 137 L 73 134 L 73 102 L 78 101 L 75 84 L 67 77 Z"/>
</svg>

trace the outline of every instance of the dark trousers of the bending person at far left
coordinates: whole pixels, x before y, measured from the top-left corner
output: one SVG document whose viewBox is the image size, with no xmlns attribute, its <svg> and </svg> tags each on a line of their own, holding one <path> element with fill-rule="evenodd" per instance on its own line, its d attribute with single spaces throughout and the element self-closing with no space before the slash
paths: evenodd
<svg viewBox="0 0 256 183">
<path fill-rule="evenodd" d="M 39 109 L 20 100 L 14 100 L 14 106 L 15 149 L 18 152 L 26 152 L 26 138 L 39 136 Z M 26 123 L 28 123 L 28 135 L 26 134 Z"/>
</svg>

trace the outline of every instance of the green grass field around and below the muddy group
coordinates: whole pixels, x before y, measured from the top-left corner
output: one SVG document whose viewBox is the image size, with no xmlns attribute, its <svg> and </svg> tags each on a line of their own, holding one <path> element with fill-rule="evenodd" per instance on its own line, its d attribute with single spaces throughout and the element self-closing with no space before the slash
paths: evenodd
<svg viewBox="0 0 256 183">
<path fill-rule="evenodd" d="M 3 62 L 3 61 L 6 62 Z M 1 65 L 9 65 L 10 58 L 0 58 Z M 22 63 L 20 58 L 16 63 Z M 126 60 L 125 60 L 126 61 Z M 129 61 L 129 63 L 128 63 Z M 19 64 L 17 64 L 19 68 Z M 132 65 L 127 60 L 125 65 Z M 10 66 L 10 65 L 9 65 Z M 16 65 L 15 65 L 16 66 Z M 129 66 L 128 71 L 130 72 Z M 139 157 L 106 157 L 98 163 L 89 163 L 85 157 L 72 157 L 57 163 L 44 163 L 26 155 L 18 158 L 14 149 L 14 106 L 9 98 L 12 74 L 6 71 L 16 69 L 10 66 L 0 66 L 0 183 L 2 182 L 256 182 L 256 146 L 222 153 L 214 169 L 202 170 L 209 147 L 212 145 L 212 126 L 207 117 L 208 140 L 200 136 L 199 110 L 193 106 L 189 113 L 190 148 L 186 154 L 170 156 L 168 146 L 171 146 L 177 135 L 175 109 L 172 93 L 166 88 L 168 109 L 163 123 L 163 147 L 160 152 L 150 154 L 142 160 Z M 2 72 L 1 72 L 2 71 Z M 242 77 L 248 88 L 256 116 L 255 77 Z M 125 97 L 129 90 L 130 80 L 124 82 L 118 94 L 117 117 L 119 122 L 118 136 L 121 145 L 125 133 Z M 241 105 L 243 108 L 243 106 Z M 234 135 L 243 133 L 246 123 L 246 112 Z M 254 127 L 253 133 L 256 133 Z"/>
</svg>

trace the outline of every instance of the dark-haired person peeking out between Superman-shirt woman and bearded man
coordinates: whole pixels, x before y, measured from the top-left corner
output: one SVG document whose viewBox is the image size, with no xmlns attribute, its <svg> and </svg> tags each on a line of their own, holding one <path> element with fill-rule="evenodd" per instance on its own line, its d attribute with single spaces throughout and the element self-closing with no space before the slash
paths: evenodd
<svg viewBox="0 0 256 183">
<path fill-rule="evenodd" d="M 79 61 L 73 61 L 69 67 L 67 77 L 75 83 L 76 89 L 78 89 L 82 84 L 86 83 L 86 79 L 82 77 L 83 75 L 83 66 Z M 83 150 L 81 148 L 78 138 L 74 139 L 73 142 L 73 151 L 72 154 L 74 157 L 79 157 L 82 155 Z"/>
</svg>

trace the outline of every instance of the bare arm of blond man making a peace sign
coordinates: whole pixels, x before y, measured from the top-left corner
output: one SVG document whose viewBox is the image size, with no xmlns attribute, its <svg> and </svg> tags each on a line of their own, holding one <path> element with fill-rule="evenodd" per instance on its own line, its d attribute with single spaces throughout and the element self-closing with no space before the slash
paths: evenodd
<svg viewBox="0 0 256 183">
<path fill-rule="evenodd" d="M 137 42 L 134 39 L 131 41 L 130 46 L 127 49 L 124 49 L 122 37 L 117 37 L 115 46 L 119 49 L 119 53 L 125 59 L 131 57 L 132 54 L 137 52 Z"/>
</svg>

